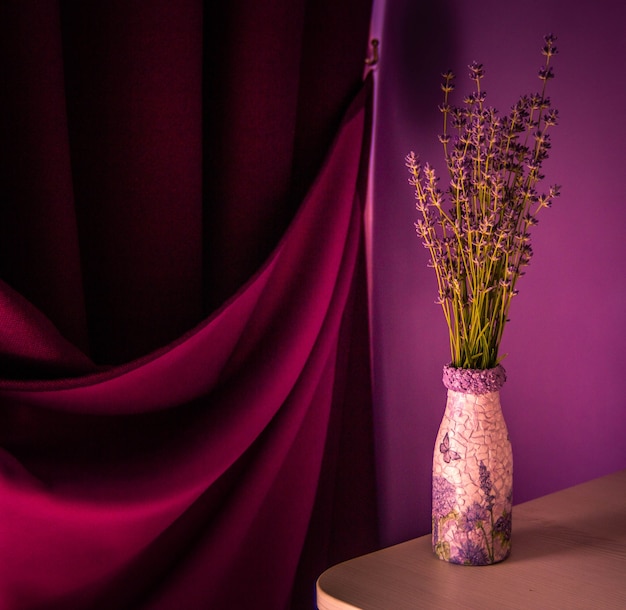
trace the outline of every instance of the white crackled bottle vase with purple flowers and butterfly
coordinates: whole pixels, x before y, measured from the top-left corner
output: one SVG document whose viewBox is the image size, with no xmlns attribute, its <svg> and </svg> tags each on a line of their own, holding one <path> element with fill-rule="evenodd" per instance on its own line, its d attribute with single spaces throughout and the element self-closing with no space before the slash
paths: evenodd
<svg viewBox="0 0 626 610">
<path fill-rule="evenodd" d="M 493 369 L 444 367 L 446 409 L 433 453 L 433 551 L 463 565 L 511 552 L 513 454 Z"/>
</svg>

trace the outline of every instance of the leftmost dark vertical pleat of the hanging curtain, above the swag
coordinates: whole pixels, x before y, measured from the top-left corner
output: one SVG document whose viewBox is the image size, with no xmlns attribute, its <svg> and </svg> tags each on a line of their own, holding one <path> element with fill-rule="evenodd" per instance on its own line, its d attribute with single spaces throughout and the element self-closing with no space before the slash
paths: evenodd
<svg viewBox="0 0 626 610">
<path fill-rule="evenodd" d="M 0 276 L 88 349 L 58 6 L 0 3 Z"/>
</svg>

